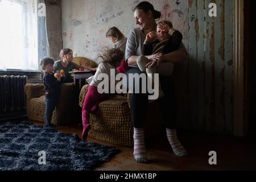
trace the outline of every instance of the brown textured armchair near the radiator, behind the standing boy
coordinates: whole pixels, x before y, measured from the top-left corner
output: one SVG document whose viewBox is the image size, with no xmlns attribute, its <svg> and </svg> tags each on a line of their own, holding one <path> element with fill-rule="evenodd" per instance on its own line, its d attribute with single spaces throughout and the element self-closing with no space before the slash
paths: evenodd
<svg viewBox="0 0 256 182">
<path fill-rule="evenodd" d="M 74 57 L 74 63 L 95 68 L 97 64 L 85 57 Z M 44 122 L 46 91 L 43 84 L 26 84 L 27 117 L 29 121 Z M 54 125 L 69 125 L 79 122 L 81 109 L 78 105 L 79 89 L 73 83 L 61 84 L 60 100 L 53 111 Z"/>
</svg>

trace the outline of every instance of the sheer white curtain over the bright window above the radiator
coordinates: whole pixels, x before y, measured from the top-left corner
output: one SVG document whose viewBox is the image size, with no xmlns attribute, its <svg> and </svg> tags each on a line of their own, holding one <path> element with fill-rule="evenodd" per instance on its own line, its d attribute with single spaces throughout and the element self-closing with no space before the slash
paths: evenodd
<svg viewBox="0 0 256 182">
<path fill-rule="evenodd" d="M 1 0 L 0 23 L 0 69 L 39 71 L 39 59 L 49 56 L 45 2 Z"/>
</svg>

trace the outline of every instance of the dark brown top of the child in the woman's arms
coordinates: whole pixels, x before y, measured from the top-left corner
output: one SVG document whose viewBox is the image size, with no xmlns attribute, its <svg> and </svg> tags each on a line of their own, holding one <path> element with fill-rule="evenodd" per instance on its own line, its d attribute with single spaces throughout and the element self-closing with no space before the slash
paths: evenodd
<svg viewBox="0 0 256 182">
<path fill-rule="evenodd" d="M 175 31 L 170 38 L 160 42 L 158 39 L 153 40 L 149 44 L 143 44 L 144 56 L 153 55 L 155 53 L 167 54 L 176 51 L 182 41 L 183 35 L 179 31 Z M 157 51 L 156 47 L 163 47 L 162 51 Z M 158 49 L 159 50 L 159 49 Z"/>
</svg>

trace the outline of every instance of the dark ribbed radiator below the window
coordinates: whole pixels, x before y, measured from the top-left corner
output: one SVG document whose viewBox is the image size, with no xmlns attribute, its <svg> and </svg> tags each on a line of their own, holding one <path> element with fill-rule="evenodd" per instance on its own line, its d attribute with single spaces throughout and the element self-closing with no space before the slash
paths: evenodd
<svg viewBox="0 0 256 182">
<path fill-rule="evenodd" d="M 26 113 L 27 76 L 0 76 L 0 115 Z"/>
</svg>

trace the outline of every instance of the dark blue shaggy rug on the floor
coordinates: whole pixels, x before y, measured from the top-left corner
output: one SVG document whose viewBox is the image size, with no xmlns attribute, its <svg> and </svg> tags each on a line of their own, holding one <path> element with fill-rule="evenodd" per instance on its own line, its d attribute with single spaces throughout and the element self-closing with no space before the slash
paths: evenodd
<svg viewBox="0 0 256 182">
<path fill-rule="evenodd" d="M 0 171 L 84 171 L 108 162 L 119 152 L 26 121 L 0 123 Z"/>
</svg>

